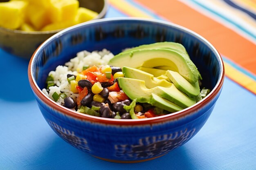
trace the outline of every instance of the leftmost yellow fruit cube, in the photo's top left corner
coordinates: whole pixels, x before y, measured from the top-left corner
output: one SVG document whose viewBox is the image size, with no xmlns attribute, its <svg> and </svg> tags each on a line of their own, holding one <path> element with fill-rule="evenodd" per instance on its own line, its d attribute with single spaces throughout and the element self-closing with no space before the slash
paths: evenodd
<svg viewBox="0 0 256 170">
<path fill-rule="evenodd" d="M 9 29 L 18 29 L 24 22 L 24 10 L 27 2 L 12 0 L 0 2 L 0 26 Z"/>
</svg>

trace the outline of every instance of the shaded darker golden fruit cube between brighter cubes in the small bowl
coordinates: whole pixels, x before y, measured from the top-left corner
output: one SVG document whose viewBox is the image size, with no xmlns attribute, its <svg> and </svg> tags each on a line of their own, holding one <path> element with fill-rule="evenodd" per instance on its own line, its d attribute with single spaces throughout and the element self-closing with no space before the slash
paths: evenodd
<svg viewBox="0 0 256 170">
<path fill-rule="evenodd" d="M 50 24 L 49 15 L 47 15 L 48 9 L 30 4 L 26 10 L 26 18 L 31 25 L 37 30 L 42 29 L 45 25 Z"/>
</svg>

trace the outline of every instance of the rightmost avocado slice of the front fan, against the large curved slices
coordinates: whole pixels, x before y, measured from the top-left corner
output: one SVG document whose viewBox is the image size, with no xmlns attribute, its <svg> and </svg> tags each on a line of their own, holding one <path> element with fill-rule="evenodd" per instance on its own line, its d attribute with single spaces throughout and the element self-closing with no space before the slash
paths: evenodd
<svg viewBox="0 0 256 170">
<path fill-rule="evenodd" d="M 184 77 L 182 77 L 179 73 L 171 70 L 166 71 L 166 76 L 171 79 L 177 89 L 183 93 L 186 93 L 189 97 L 195 97 L 200 93 L 198 81 L 192 84 L 184 79 Z"/>
</svg>

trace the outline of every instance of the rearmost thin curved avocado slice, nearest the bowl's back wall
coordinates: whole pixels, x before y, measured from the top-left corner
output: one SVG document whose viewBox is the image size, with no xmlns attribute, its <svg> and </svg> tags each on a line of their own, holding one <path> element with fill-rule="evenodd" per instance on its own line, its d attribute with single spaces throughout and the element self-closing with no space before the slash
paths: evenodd
<svg viewBox="0 0 256 170">
<path fill-rule="evenodd" d="M 153 44 L 145 44 L 145 45 L 140 45 L 137 47 L 133 47 L 131 49 L 127 49 L 125 50 L 125 52 L 128 51 L 135 51 L 135 50 L 141 50 L 141 49 L 171 49 L 171 50 L 175 50 L 184 54 L 188 54 L 186 52 L 185 47 L 177 42 L 156 42 Z"/>
</svg>

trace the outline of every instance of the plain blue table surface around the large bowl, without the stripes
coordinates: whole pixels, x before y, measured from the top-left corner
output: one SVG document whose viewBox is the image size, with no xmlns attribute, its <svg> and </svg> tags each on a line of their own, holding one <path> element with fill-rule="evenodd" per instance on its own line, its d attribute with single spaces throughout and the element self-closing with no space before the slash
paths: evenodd
<svg viewBox="0 0 256 170">
<path fill-rule="evenodd" d="M 110 7 L 106 17 L 123 15 Z M 28 63 L 0 49 L 0 170 L 256 169 L 256 95 L 227 77 L 213 113 L 193 139 L 158 159 L 121 164 L 83 153 L 54 133 L 31 92 Z"/>
</svg>

